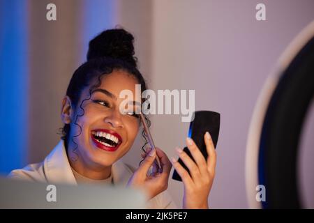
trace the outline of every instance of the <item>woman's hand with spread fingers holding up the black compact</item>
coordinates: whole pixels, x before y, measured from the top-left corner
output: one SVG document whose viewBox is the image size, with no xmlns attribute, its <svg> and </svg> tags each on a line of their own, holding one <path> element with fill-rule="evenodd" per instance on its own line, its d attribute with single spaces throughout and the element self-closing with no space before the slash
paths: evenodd
<svg viewBox="0 0 314 223">
<path fill-rule="evenodd" d="M 195 162 L 181 148 L 177 148 L 179 157 L 188 167 L 191 176 L 177 160 L 172 158 L 174 169 L 177 170 L 184 183 L 184 209 L 208 208 L 209 192 L 213 185 L 216 169 L 216 151 L 208 132 L 204 134 L 204 141 L 208 153 L 207 160 L 204 159 L 193 139 L 186 139 L 186 144 Z"/>
</svg>

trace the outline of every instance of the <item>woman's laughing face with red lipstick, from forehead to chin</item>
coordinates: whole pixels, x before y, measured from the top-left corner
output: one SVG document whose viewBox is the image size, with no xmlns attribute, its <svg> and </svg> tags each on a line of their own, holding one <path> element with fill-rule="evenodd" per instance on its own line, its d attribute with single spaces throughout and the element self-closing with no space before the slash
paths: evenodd
<svg viewBox="0 0 314 223">
<path fill-rule="evenodd" d="M 110 75 L 103 75 L 101 84 L 93 93 L 90 100 L 89 87 L 82 91 L 80 102 L 77 103 L 70 123 L 69 149 L 76 147 L 74 154 L 91 167 L 109 167 L 124 156 L 133 145 L 140 128 L 140 118 L 135 110 L 140 109 L 140 101 L 130 98 L 128 113 L 121 114 L 120 104 L 126 98 L 119 98 L 123 90 L 130 90 L 135 95 L 135 77 L 123 70 L 114 70 Z M 137 105 L 136 105 L 137 104 Z M 83 115 L 82 115 L 83 114 Z M 75 118 L 77 124 L 75 125 Z M 82 115 L 82 116 L 80 116 Z M 77 137 L 75 135 L 79 134 Z M 73 141 L 72 141 L 73 137 Z M 75 157 L 74 157 L 75 158 Z"/>
</svg>

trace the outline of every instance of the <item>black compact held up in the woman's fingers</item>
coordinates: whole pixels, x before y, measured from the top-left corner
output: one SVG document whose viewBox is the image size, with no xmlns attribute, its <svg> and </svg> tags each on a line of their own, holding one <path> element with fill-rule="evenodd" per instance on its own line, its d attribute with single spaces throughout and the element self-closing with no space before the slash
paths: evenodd
<svg viewBox="0 0 314 223">
<path fill-rule="evenodd" d="M 192 138 L 195 141 L 195 144 L 200 149 L 202 155 L 207 159 L 207 149 L 204 142 L 205 132 L 211 134 L 211 139 L 213 139 L 214 146 L 216 148 L 218 142 L 220 128 L 220 114 L 217 112 L 211 111 L 197 111 L 194 112 L 194 120 L 190 122 L 190 128 L 188 130 L 188 137 Z M 193 159 L 193 156 L 190 154 L 188 147 L 184 147 L 184 151 Z M 195 160 L 194 160 L 195 161 Z M 184 162 L 179 158 L 178 162 L 188 171 L 188 167 Z M 190 173 L 190 171 L 188 171 Z M 182 181 L 181 176 L 174 169 L 172 174 L 172 179 Z"/>
</svg>

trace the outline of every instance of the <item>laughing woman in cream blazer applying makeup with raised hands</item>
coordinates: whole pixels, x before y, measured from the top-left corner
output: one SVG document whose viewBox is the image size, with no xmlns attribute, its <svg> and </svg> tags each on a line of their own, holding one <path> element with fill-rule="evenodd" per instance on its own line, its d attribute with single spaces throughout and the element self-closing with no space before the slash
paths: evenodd
<svg viewBox="0 0 314 223">
<path fill-rule="evenodd" d="M 75 70 L 62 100 L 61 141 L 43 162 L 14 170 L 9 176 L 46 183 L 137 187 L 146 192 L 149 208 L 176 208 L 165 191 L 173 164 L 184 182 L 183 208 L 208 208 L 216 167 L 216 152 L 208 133 L 204 135 L 208 160 L 204 160 L 192 139 L 186 143 L 195 162 L 177 148 L 190 175 L 174 158 L 171 164 L 160 148 L 142 154 L 144 160 L 137 169 L 120 160 L 140 130 L 136 111 L 143 101 L 130 101 L 133 106 L 122 114 L 119 106 L 124 98 L 119 98 L 119 93 L 127 89 L 135 95 L 135 84 L 141 85 L 141 91 L 147 89 L 134 54 L 133 36 L 124 29 L 103 31 L 91 40 L 87 62 Z M 149 171 L 156 156 L 162 172 L 156 168 Z"/>
</svg>

